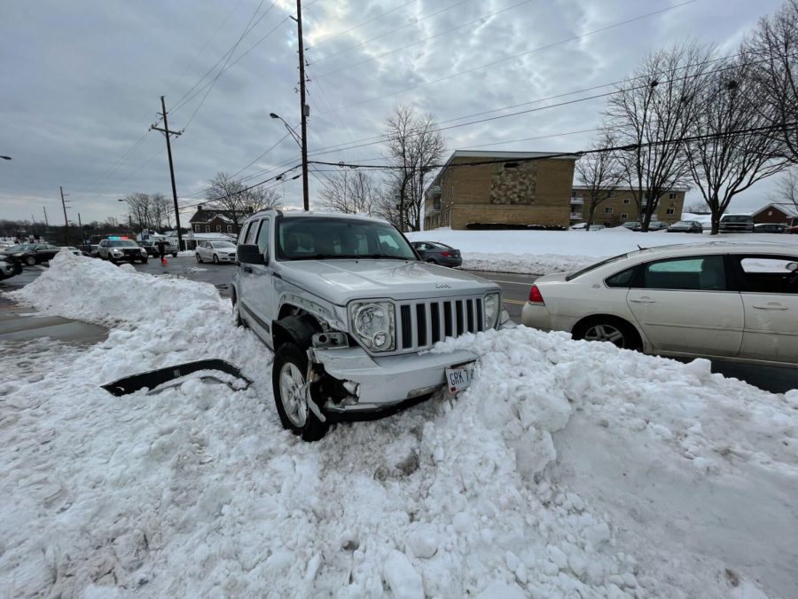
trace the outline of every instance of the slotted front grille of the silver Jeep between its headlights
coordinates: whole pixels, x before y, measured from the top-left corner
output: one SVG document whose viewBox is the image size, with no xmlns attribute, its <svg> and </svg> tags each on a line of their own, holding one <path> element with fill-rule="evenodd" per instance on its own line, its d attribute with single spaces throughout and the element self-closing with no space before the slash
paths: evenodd
<svg viewBox="0 0 798 599">
<path fill-rule="evenodd" d="M 447 337 L 485 328 L 481 296 L 401 302 L 398 308 L 399 351 L 426 350 Z"/>
</svg>

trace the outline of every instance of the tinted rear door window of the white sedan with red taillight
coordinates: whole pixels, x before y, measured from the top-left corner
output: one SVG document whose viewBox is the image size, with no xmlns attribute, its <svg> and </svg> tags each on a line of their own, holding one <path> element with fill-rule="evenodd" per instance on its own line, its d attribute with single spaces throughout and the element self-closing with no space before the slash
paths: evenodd
<svg viewBox="0 0 798 599">
<path fill-rule="evenodd" d="M 687 291 L 725 291 L 724 256 L 689 256 L 643 267 L 642 287 Z"/>
</svg>

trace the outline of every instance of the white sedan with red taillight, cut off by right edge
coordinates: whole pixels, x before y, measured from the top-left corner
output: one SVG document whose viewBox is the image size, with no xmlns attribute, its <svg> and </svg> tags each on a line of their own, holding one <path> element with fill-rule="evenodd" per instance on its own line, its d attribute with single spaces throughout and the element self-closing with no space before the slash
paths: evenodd
<svg viewBox="0 0 798 599">
<path fill-rule="evenodd" d="M 671 356 L 798 364 L 798 248 L 691 243 L 535 281 L 528 327 Z"/>
</svg>

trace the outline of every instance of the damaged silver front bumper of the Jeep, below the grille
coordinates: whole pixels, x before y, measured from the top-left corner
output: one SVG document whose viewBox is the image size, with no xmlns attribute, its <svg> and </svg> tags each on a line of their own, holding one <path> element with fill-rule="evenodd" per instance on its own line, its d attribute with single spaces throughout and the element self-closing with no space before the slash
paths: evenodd
<svg viewBox="0 0 798 599">
<path fill-rule="evenodd" d="M 445 386 L 446 368 L 477 359 L 471 351 L 375 357 L 360 347 L 313 348 L 309 357 L 314 372 L 323 370 L 339 390 L 346 390 L 344 397 L 322 393 L 324 413 L 363 419 L 416 403 Z"/>
</svg>

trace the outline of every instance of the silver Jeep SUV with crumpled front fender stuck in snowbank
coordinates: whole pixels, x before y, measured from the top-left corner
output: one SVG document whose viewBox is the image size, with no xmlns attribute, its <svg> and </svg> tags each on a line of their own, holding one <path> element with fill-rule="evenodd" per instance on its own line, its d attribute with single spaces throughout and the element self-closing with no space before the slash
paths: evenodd
<svg viewBox="0 0 798 599">
<path fill-rule="evenodd" d="M 470 351 L 434 343 L 512 326 L 501 288 L 419 259 L 386 221 L 268 210 L 244 224 L 231 299 L 237 325 L 274 352 L 280 422 L 305 440 L 330 422 L 393 414 L 470 381 Z"/>
</svg>

